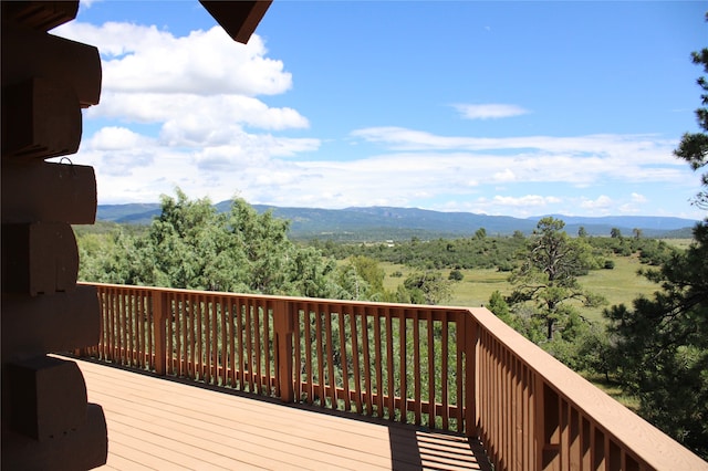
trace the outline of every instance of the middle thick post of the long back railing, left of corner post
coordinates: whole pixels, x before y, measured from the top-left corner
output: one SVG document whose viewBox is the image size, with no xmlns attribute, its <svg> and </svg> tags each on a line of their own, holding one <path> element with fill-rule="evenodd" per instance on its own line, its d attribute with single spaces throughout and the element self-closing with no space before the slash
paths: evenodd
<svg viewBox="0 0 708 471">
<path fill-rule="evenodd" d="M 294 401 L 293 389 L 293 312 L 292 303 L 278 300 L 273 303 L 273 329 L 278 358 L 278 395 L 283 402 Z"/>
</svg>

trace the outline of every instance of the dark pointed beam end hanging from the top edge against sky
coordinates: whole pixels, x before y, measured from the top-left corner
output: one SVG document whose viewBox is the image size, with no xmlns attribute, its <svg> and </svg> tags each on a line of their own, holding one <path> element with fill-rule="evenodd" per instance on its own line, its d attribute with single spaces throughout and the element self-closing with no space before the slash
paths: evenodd
<svg viewBox="0 0 708 471">
<path fill-rule="evenodd" d="M 233 41 L 246 44 L 261 22 L 272 0 L 199 0 Z"/>
</svg>

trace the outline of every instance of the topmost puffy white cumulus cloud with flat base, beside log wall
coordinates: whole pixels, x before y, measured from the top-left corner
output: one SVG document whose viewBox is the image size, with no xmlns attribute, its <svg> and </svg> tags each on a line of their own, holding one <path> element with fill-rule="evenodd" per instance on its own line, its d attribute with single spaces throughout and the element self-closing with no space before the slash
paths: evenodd
<svg viewBox="0 0 708 471">
<path fill-rule="evenodd" d="M 232 41 L 219 27 L 177 38 L 155 25 L 70 22 L 54 34 L 98 48 L 104 91 L 124 93 L 238 94 L 284 93 L 292 76 L 282 61 L 266 56 L 260 36 Z"/>
</svg>

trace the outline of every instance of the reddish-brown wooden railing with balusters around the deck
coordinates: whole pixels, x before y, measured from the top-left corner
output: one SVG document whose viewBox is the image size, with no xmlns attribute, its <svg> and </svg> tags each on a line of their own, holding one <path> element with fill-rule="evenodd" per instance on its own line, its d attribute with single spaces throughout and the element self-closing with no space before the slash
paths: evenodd
<svg viewBox="0 0 708 471">
<path fill-rule="evenodd" d="M 499 470 L 708 469 L 483 307 L 96 287 L 82 355 L 464 432 Z"/>
</svg>

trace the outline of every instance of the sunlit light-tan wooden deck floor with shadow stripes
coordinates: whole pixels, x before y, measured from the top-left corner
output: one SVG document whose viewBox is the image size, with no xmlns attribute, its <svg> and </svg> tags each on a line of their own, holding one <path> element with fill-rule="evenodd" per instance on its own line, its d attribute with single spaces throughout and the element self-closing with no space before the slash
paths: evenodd
<svg viewBox="0 0 708 471">
<path fill-rule="evenodd" d="M 464 437 L 77 360 L 116 470 L 490 470 Z"/>
</svg>

